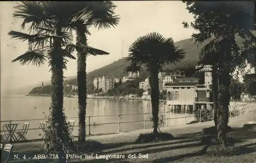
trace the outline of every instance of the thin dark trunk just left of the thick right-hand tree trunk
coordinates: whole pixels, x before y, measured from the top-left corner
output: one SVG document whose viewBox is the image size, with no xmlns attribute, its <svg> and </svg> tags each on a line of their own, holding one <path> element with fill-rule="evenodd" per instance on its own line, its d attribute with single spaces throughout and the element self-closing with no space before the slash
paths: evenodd
<svg viewBox="0 0 256 163">
<path fill-rule="evenodd" d="M 218 67 L 216 64 L 212 65 L 212 95 L 214 101 L 214 123 L 217 129 L 218 126 L 218 74 L 217 74 Z"/>
</svg>

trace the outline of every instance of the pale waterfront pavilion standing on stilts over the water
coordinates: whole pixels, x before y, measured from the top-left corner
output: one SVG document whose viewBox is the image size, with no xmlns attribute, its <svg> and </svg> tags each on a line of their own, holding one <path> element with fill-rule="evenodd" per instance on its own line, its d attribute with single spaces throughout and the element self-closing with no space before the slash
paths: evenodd
<svg viewBox="0 0 256 163">
<path fill-rule="evenodd" d="M 201 105 L 209 109 L 213 102 L 210 100 L 210 85 L 198 85 L 199 78 L 182 77 L 173 83 L 166 83 L 167 105 L 170 109 L 196 110 Z"/>
</svg>

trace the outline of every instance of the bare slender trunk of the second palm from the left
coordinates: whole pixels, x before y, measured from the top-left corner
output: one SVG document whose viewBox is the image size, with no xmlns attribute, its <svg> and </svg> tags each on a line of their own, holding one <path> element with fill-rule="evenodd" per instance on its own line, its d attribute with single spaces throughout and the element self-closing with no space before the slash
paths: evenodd
<svg viewBox="0 0 256 163">
<path fill-rule="evenodd" d="M 77 28 L 76 45 L 87 45 L 84 25 L 81 23 Z M 86 142 L 86 55 L 84 49 L 77 50 L 77 84 L 78 84 L 78 141 L 80 144 Z"/>
</svg>

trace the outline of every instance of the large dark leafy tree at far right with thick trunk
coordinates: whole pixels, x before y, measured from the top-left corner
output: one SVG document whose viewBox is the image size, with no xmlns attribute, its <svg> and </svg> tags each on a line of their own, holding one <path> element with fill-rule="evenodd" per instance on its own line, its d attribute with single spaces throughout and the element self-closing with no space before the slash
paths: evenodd
<svg viewBox="0 0 256 163">
<path fill-rule="evenodd" d="M 219 59 L 213 60 L 211 65 L 215 66 L 215 72 L 218 70 L 218 138 L 222 145 L 226 146 L 225 128 L 228 124 L 230 74 L 237 65 L 240 68 L 244 67 L 245 59 L 248 58 L 246 52 L 240 52 L 235 36 L 255 40 L 250 32 L 255 30 L 254 2 L 186 1 L 185 3 L 189 13 L 195 15 L 195 21 L 191 22 L 190 26 L 199 31 L 198 34 L 192 35 L 193 39 L 196 43 L 209 41 L 202 49 L 203 55 L 218 54 Z M 183 24 L 188 27 L 186 22 Z M 216 89 L 214 87 L 214 98 L 217 98 Z"/>
</svg>

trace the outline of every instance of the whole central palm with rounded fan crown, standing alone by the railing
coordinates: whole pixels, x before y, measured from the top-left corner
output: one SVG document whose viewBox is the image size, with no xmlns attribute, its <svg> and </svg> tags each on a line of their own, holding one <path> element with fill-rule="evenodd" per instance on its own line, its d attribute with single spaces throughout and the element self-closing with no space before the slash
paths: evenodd
<svg viewBox="0 0 256 163">
<path fill-rule="evenodd" d="M 150 74 L 152 116 L 154 122 L 153 133 L 158 132 L 158 112 L 159 112 L 159 86 L 158 72 L 162 72 L 166 64 L 176 64 L 185 58 L 183 49 L 178 49 L 174 45 L 172 38 L 164 38 L 159 33 L 149 33 L 139 37 L 129 47 L 129 55 L 126 58 L 130 65 L 126 67 L 126 72 L 142 71 L 144 66 Z"/>
</svg>

